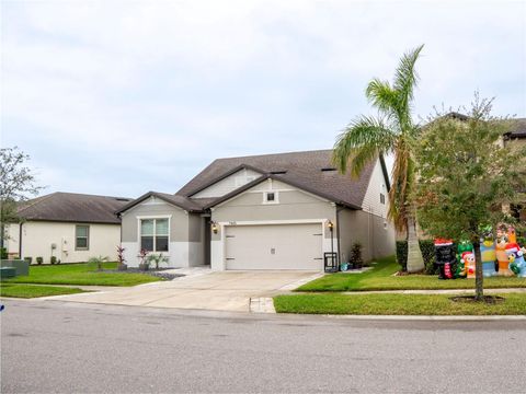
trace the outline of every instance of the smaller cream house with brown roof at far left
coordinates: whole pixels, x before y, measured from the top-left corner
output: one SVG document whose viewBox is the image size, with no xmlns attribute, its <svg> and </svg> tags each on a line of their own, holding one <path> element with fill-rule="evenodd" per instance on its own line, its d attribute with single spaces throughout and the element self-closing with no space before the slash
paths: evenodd
<svg viewBox="0 0 526 394">
<path fill-rule="evenodd" d="M 60 263 L 87 262 L 93 256 L 116 259 L 121 243 L 121 220 L 115 211 L 129 198 L 53 193 L 32 199 L 19 209 L 21 224 L 9 224 L 7 250 L 10 256 L 52 256 Z"/>
</svg>

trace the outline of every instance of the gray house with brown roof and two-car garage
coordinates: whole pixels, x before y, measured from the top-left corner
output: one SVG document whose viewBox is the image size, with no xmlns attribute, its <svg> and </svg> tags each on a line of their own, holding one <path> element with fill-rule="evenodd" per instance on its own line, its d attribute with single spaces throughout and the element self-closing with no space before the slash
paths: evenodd
<svg viewBox="0 0 526 394">
<path fill-rule="evenodd" d="M 218 159 L 176 194 L 149 192 L 117 211 L 126 263 L 162 253 L 171 267 L 321 270 L 395 253 L 382 158 L 359 178 L 340 174 L 332 150 Z"/>
</svg>

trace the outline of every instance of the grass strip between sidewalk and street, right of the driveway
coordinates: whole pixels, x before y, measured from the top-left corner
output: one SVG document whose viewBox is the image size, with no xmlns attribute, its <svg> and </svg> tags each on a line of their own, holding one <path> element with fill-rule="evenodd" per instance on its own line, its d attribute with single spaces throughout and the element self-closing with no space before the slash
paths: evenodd
<svg viewBox="0 0 526 394">
<path fill-rule="evenodd" d="M 351 315 L 526 315 L 526 293 L 499 294 L 496 304 L 455 302 L 450 294 L 333 294 L 278 296 L 278 313 Z"/>
</svg>

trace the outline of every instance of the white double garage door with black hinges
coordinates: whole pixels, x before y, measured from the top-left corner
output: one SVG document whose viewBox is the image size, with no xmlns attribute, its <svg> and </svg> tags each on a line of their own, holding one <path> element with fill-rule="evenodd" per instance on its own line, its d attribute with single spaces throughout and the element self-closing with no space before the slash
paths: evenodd
<svg viewBox="0 0 526 394">
<path fill-rule="evenodd" d="M 227 269 L 323 268 L 321 224 L 229 225 Z"/>
</svg>

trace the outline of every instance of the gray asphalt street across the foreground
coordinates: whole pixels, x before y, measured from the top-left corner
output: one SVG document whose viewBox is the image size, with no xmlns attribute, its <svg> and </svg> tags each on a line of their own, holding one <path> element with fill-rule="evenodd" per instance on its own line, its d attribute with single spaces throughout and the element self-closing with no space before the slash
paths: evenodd
<svg viewBox="0 0 526 394">
<path fill-rule="evenodd" d="M 3 301 L 2 393 L 524 393 L 525 321 Z"/>
</svg>

